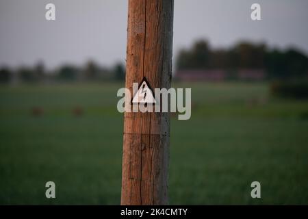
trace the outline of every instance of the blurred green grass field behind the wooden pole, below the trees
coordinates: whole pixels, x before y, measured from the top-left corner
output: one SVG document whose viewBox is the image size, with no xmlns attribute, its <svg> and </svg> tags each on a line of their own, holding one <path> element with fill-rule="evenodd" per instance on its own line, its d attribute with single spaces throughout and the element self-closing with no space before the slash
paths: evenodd
<svg viewBox="0 0 308 219">
<path fill-rule="evenodd" d="M 122 86 L 1 86 L 0 204 L 118 205 Z M 308 204 L 308 101 L 275 99 L 266 83 L 174 86 L 192 88 L 193 109 L 171 121 L 170 204 Z"/>
</svg>

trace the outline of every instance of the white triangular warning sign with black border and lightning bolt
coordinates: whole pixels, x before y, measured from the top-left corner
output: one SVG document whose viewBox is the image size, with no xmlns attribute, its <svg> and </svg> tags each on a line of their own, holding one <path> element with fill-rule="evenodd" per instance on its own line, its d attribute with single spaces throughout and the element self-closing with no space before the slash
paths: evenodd
<svg viewBox="0 0 308 219">
<path fill-rule="evenodd" d="M 133 95 L 131 103 L 156 103 L 153 90 L 145 77 L 142 79 L 138 91 Z"/>
</svg>

